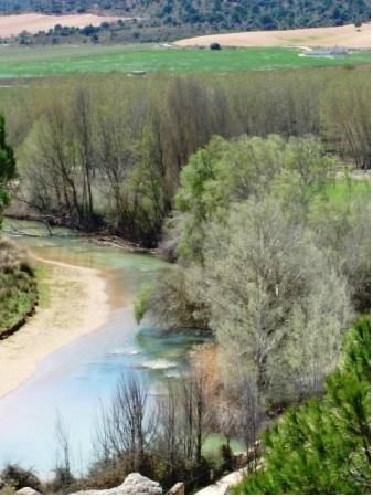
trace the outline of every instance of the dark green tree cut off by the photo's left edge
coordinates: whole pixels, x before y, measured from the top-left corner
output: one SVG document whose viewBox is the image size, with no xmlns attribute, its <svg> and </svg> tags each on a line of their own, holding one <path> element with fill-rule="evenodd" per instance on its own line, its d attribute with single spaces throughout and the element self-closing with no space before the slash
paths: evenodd
<svg viewBox="0 0 373 497">
<path fill-rule="evenodd" d="M 2 214 L 10 202 L 9 182 L 15 178 L 15 159 L 6 140 L 6 119 L 0 115 L 0 228 Z"/>
</svg>

